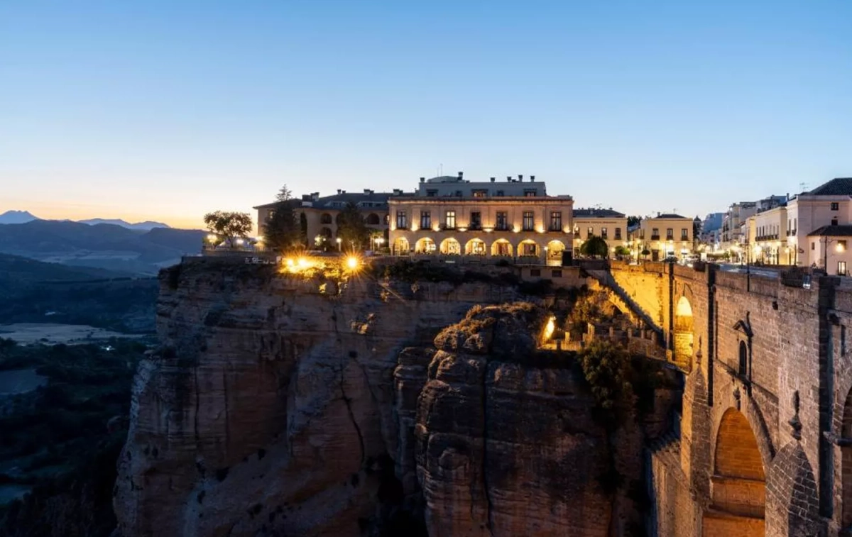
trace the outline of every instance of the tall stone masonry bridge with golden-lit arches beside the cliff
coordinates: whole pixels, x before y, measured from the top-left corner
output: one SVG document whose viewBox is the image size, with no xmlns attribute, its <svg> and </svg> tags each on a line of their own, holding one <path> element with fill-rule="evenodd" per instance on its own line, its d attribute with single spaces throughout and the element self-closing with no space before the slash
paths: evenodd
<svg viewBox="0 0 852 537">
<path fill-rule="evenodd" d="M 678 423 L 648 449 L 648 533 L 852 535 L 852 283 L 663 263 L 595 276 L 684 374 Z"/>
</svg>

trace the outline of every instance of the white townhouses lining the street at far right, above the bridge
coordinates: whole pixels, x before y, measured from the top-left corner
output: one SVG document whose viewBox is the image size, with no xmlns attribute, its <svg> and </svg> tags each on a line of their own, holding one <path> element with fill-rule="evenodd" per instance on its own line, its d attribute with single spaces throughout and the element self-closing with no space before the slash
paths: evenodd
<svg viewBox="0 0 852 537">
<path fill-rule="evenodd" d="M 708 251 L 741 263 L 809 266 L 848 275 L 852 266 L 852 178 L 832 179 L 793 196 L 732 203 L 717 229 L 705 226 Z"/>
</svg>

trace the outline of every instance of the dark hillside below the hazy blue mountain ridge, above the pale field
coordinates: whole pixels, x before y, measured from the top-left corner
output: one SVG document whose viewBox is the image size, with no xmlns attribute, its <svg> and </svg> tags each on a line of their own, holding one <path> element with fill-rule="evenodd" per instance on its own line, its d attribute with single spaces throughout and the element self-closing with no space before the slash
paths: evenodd
<svg viewBox="0 0 852 537">
<path fill-rule="evenodd" d="M 156 279 L 0 254 L 0 324 L 89 324 L 153 331 Z"/>
</svg>

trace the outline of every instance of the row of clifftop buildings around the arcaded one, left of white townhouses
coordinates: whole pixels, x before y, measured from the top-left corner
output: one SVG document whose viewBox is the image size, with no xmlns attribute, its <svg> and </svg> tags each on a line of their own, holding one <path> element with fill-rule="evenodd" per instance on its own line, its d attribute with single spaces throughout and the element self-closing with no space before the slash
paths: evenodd
<svg viewBox="0 0 852 537">
<path fill-rule="evenodd" d="M 570 262 L 591 237 L 602 237 L 610 254 L 648 259 L 682 258 L 693 251 L 694 222 L 658 214 L 629 231 L 627 217 L 613 209 L 574 209 L 573 197 L 550 195 L 530 175 L 485 181 L 458 175 L 421 177 L 413 191 L 337 191 L 302 196 L 296 213 L 316 243 L 337 240 L 341 211 L 354 204 L 366 225 L 381 231 L 378 244 L 394 255 L 466 255 L 515 258 L 547 265 Z M 258 229 L 278 203 L 255 207 Z"/>
</svg>

